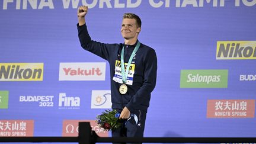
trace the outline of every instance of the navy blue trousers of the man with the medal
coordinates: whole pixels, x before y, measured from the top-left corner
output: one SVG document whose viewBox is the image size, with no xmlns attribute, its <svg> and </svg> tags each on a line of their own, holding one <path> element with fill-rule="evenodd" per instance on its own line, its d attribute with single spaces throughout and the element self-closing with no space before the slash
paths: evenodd
<svg viewBox="0 0 256 144">
<path fill-rule="evenodd" d="M 146 121 L 146 111 L 135 110 L 133 111 L 133 114 L 136 114 L 137 116 L 137 123 L 135 118 L 132 117 L 130 120 L 127 120 L 123 124 L 123 127 L 121 127 L 120 129 L 113 130 L 112 137 L 143 137 Z"/>
</svg>

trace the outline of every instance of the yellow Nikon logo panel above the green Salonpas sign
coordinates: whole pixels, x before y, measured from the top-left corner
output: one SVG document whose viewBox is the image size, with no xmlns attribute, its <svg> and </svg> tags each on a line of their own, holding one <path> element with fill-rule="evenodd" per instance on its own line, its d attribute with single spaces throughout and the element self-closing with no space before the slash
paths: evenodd
<svg viewBox="0 0 256 144">
<path fill-rule="evenodd" d="M 216 59 L 256 59 L 256 41 L 217 41 Z"/>
</svg>

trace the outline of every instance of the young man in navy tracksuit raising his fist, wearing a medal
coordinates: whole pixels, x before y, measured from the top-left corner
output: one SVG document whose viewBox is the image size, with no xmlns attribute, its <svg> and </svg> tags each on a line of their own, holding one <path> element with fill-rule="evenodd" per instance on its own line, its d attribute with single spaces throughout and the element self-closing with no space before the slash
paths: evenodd
<svg viewBox="0 0 256 144">
<path fill-rule="evenodd" d="M 124 43 L 105 44 L 91 40 L 85 24 L 87 12 L 86 6 L 78 8 L 81 46 L 110 63 L 112 108 L 119 111 L 119 119 L 133 116 L 121 129 L 112 131 L 112 136 L 143 137 L 146 112 L 156 84 L 155 50 L 137 40 L 141 21 L 135 14 L 123 15 L 121 35 Z"/>
</svg>

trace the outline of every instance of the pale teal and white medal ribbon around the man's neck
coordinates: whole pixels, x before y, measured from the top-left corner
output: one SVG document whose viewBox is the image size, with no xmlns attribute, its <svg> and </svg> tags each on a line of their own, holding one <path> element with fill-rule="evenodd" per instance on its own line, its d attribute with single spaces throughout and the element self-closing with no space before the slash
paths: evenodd
<svg viewBox="0 0 256 144">
<path fill-rule="evenodd" d="M 124 69 L 124 46 L 123 49 L 121 51 L 121 74 L 122 74 L 122 80 L 123 80 L 123 84 L 126 84 L 127 81 L 127 76 L 128 76 L 128 72 L 130 71 L 130 64 L 132 63 L 132 59 L 135 56 L 137 50 L 139 49 L 140 46 L 140 41 L 137 41 L 136 47 L 133 50 L 132 55 L 130 56 L 129 62 L 127 63 L 126 69 Z"/>
</svg>

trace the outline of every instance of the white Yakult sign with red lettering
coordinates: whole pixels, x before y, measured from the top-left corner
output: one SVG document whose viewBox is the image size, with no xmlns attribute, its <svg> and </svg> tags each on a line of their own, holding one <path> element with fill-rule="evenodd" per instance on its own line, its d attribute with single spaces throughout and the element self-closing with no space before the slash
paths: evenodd
<svg viewBox="0 0 256 144">
<path fill-rule="evenodd" d="M 60 63 L 59 81 L 105 81 L 105 63 Z"/>
</svg>

